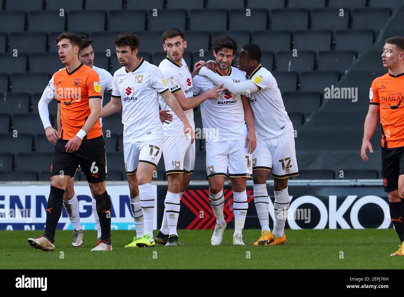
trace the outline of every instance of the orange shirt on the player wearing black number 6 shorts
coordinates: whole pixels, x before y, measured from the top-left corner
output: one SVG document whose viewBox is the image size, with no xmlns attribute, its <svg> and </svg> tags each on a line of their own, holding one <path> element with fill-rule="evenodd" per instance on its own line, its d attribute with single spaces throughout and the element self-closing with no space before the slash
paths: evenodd
<svg viewBox="0 0 404 297">
<path fill-rule="evenodd" d="M 102 98 L 100 78 L 93 68 L 81 64 L 70 73 L 67 68 L 56 72 L 54 85 L 61 112 L 59 138 L 69 140 L 76 136 L 91 114 L 88 100 L 90 98 Z M 100 122 L 96 121 L 84 139 L 101 135 Z"/>
</svg>

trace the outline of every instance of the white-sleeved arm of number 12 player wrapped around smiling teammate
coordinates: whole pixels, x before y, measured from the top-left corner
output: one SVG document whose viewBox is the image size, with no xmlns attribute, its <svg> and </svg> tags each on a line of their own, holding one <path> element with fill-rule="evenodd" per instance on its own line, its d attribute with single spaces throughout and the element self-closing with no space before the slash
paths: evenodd
<svg viewBox="0 0 404 297">
<path fill-rule="evenodd" d="M 220 76 L 219 74 L 209 70 L 205 66 L 199 70 L 199 75 L 205 76 L 212 80 L 215 84 L 223 84 L 227 88 L 227 92 L 232 95 L 245 95 L 247 93 L 254 93 L 258 91 L 258 86 L 251 80 L 245 80 L 244 82 L 232 82 L 225 76 Z"/>
</svg>

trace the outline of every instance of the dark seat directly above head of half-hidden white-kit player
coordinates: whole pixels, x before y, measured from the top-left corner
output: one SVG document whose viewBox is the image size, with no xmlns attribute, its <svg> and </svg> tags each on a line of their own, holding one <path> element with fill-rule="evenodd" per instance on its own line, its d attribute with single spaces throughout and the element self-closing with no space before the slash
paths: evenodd
<svg viewBox="0 0 404 297">
<path fill-rule="evenodd" d="M 86 25 L 83 27 L 83 20 Z M 105 11 L 70 11 L 69 32 L 81 32 L 85 29 L 87 32 L 101 32 L 105 30 Z"/>
</svg>

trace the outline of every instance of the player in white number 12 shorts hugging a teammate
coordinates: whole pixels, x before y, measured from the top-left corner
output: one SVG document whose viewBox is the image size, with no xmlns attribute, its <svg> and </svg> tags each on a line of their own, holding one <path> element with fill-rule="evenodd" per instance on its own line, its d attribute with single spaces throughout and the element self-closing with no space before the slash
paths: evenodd
<svg viewBox="0 0 404 297">
<path fill-rule="evenodd" d="M 297 168 L 293 125 L 285 110 L 274 76 L 260 63 L 261 49 L 257 44 L 244 45 L 237 59 L 238 69 L 246 72 L 248 80 L 235 84 L 224 80 L 211 70 L 214 63 L 202 67 L 199 74 L 217 84 L 224 84 L 231 94 L 250 94 L 257 131 L 257 149 L 252 155 L 254 202 L 261 223 L 261 236 L 255 245 L 284 244 L 284 227 L 290 198 L 288 177 L 299 175 Z M 274 230 L 269 229 L 269 197 L 266 179 L 272 170 L 274 177 Z"/>
</svg>

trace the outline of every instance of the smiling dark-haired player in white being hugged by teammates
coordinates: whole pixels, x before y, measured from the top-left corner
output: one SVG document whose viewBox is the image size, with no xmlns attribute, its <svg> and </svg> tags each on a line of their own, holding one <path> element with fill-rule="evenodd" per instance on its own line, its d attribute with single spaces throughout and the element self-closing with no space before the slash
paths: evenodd
<svg viewBox="0 0 404 297">
<path fill-rule="evenodd" d="M 237 43 L 229 36 L 221 36 L 213 45 L 217 75 L 223 81 L 239 84 L 246 79 L 244 72 L 231 67 Z M 203 69 L 206 67 L 202 67 Z M 207 69 L 206 69 L 207 70 Z M 213 72 L 212 72 L 213 73 Z M 221 82 L 220 84 L 223 84 Z M 194 94 L 206 92 L 215 84 L 203 77 L 194 77 Z M 246 96 L 231 95 L 227 91 L 218 100 L 201 104 L 202 124 L 206 138 L 206 171 L 209 182 L 209 202 L 216 216 L 216 225 L 210 243 L 220 245 L 227 224 L 223 217 L 223 185 L 230 177 L 234 194 L 234 245 L 245 245 L 242 230 L 246 219 L 248 200 L 246 178 L 252 174 L 252 152 L 256 137 L 254 118 Z"/>
</svg>

